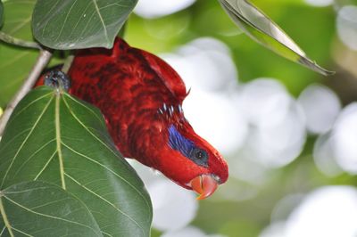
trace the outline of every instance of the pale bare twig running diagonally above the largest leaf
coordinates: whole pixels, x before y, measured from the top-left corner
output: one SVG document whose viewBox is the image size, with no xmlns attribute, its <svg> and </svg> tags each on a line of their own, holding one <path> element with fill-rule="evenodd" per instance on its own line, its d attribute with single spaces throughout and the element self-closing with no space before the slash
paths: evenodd
<svg viewBox="0 0 357 237">
<path fill-rule="evenodd" d="M 35 85 L 37 78 L 41 75 L 43 69 L 45 69 L 48 61 L 50 61 L 52 53 L 43 49 L 41 50 L 37 62 L 33 69 L 29 73 L 29 77 L 25 80 L 24 84 L 21 86 L 20 90 L 13 96 L 12 101 L 4 110 L 4 114 L 0 120 L 0 136 L 3 135 L 4 128 L 7 121 L 10 119 L 13 109 L 21 101 L 23 96 L 29 92 L 29 90 Z"/>
</svg>

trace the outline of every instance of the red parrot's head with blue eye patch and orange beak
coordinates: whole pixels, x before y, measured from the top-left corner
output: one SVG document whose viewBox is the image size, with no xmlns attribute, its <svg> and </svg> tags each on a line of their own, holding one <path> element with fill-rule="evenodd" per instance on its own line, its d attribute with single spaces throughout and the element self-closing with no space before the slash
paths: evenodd
<svg viewBox="0 0 357 237">
<path fill-rule="evenodd" d="M 166 110 L 165 110 L 165 107 Z M 164 135 L 154 140 L 156 149 L 154 154 L 158 163 L 152 164 L 160 170 L 163 175 L 168 176 L 172 181 L 199 194 L 197 200 L 203 200 L 212 195 L 219 184 L 223 184 L 228 179 L 228 165 L 220 155 L 220 152 L 197 135 L 183 115 L 180 106 L 164 106 L 159 110 L 159 114 L 169 113 L 165 119 L 166 130 Z M 164 144 L 164 145 L 162 145 Z"/>
</svg>

